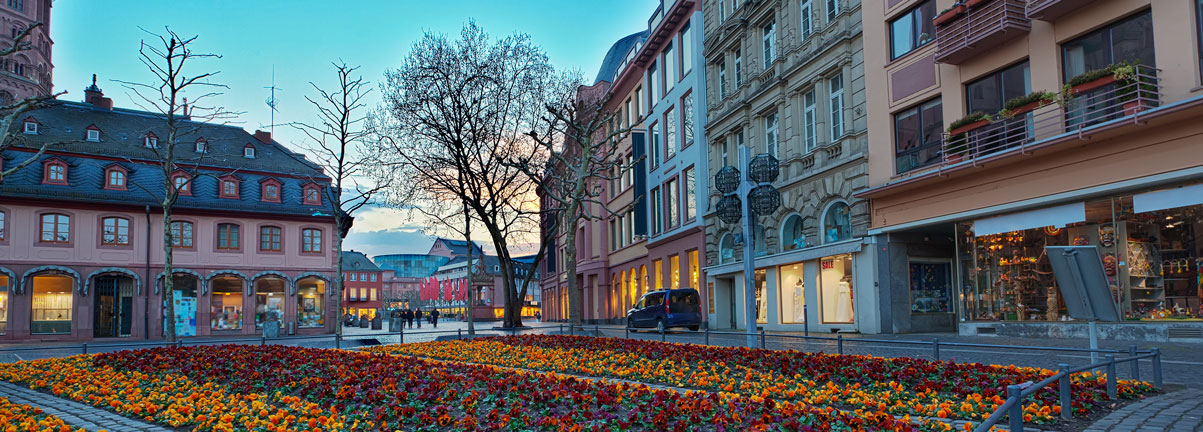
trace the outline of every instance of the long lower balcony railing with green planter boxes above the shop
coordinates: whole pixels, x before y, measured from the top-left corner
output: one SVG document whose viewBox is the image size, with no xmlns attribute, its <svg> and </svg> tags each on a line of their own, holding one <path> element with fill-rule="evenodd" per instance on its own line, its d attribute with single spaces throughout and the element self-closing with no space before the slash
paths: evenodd
<svg viewBox="0 0 1203 432">
<path fill-rule="evenodd" d="M 989 124 L 955 135 L 944 134 L 941 147 L 942 165 L 972 161 L 1009 152 L 1025 153 L 1027 148 L 1063 134 L 1089 132 L 1126 117 L 1139 117 L 1142 111 L 1161 105 L 1158 71 L 1136 66 L 1130 79 L 1113 82 L 1112 76 L 1069 90 L 1065 105 L 1048 102 L 1035 110 L 1015 110 L 1017 114 L 995 114 Z M 1031 106 L 1027 107 L 1029 110 Z"/>
</svg>

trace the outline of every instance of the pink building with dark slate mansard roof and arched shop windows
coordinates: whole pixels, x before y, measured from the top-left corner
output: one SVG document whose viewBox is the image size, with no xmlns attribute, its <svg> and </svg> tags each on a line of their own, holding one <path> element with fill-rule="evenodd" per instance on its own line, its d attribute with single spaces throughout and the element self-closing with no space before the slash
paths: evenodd
<svg viewBox="0 0 1203 432">
<path fill-rule="evenodd" d="M 177 153 L 205 176 L 172 178 L 177 335 L 253 335 L 272 315 L 332 331 L 328 178 L 266 132 L 179 122 Z M 0 179 L 0 338 L 161 337 L 165 119 L 57 101 L 10 132 L 2 166 L 37 159 Z M 61 144 L 36 155 L 45 142 Z"/>
</svg>

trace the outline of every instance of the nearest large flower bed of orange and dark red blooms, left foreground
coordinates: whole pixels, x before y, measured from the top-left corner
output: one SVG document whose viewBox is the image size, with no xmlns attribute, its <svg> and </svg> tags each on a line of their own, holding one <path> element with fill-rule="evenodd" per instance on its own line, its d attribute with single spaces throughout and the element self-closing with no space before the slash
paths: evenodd
<svg viewBox="0 0 1203 432">
<path fill-rule="evenodd" d="M 729 392 L 656 390 L 279 345 L 156 348 L 25 361 L 0 365 L 0 379 L 194 431 L 949 428 L 878 410 L 843 413 Z"/>
</svg>

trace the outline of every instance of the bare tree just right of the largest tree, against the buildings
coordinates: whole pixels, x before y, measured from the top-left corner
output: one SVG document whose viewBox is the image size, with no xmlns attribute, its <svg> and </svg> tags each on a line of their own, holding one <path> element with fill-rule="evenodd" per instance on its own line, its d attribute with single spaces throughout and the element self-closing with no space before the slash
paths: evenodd
<svg viewBox="0 0 1203 432">
<path fill-rule="evenodd" d="M 623 126 L 620 113 L 609 108 L 609 85 L 571 84 L 561 95 L 546 105 L 544 126 L 527 134 L 540 147 L 540 156 L 515 165 L 539 184 L 544 212 L 555 221 L 544 236 L 564 237 L 568 318 L 580 325 L 585 310 L 576 282 L 576 230 L 582 223 L 618 215 L 600 200 L 602 194 L 610 181 L 640 160 L 621 158 L 620 146 L 630 135 L 630 125 Z"/>
</svg>

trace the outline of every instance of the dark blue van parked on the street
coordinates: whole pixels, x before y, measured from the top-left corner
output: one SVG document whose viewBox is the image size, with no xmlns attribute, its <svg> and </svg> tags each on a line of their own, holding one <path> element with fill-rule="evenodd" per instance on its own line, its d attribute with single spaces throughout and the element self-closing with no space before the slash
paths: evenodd
<svg viewBox="0 0 1203 432">
<path fill-rule="evenodd" d="M 639 297 L 627 310 L 627 326 L 633 329 L 686 327 L 697 331 L 701 326 L 701 301 L 692 288 L 657 290 Z"/>
</svg>

